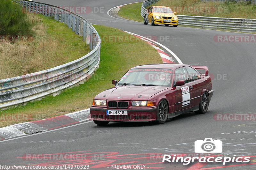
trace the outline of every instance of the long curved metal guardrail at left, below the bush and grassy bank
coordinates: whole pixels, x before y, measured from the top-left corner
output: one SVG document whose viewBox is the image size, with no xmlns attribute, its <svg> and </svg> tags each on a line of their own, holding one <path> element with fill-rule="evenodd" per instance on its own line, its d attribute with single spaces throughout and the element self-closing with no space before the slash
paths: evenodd
<svg viewBox="0 0 256 170">
<path fill-rule="evenodd" d="M 83 82 L 100 63 L 100 36 L 84 18 L 49 4 L 15 0 L 27 12 L 39 13 L 65 23 L 83 41 L 90 44 L 91 52 L 72 62 L 23 76 L 0 80 L 0 109 L 38 100 L 47 95 L 57 95 L 62 90 Z"/>
</svg>

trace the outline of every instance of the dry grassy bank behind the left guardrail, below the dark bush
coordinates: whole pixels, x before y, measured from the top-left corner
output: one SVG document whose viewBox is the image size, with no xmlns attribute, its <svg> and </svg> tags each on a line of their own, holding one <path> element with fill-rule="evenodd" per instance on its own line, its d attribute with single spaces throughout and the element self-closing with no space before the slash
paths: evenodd
<svg viewBox="0 0 256 170">
<path fill-rule="evenodd" d="M 35 35 L 0 41 L 0 79 L 49 69 L 89 53 L 89 45 L 63 23 L 39 14 L 27 15 L 35 22 Z"/>
</svg>

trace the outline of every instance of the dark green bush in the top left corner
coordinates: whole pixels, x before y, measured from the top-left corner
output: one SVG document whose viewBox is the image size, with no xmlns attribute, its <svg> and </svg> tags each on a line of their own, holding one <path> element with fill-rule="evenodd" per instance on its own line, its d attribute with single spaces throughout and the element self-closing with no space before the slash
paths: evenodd
<svg viewBox="0 0 256 170">
<path fill-rule="evenodd" d="M 33 35 L 26 11 L 11 0 L 0 0 L 0 35 Z"/>
</svg>

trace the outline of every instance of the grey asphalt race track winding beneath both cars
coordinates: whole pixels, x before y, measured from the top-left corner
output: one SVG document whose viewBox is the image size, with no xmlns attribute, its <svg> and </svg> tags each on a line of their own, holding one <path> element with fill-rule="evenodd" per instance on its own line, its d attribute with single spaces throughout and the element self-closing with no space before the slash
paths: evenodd
<svg viewBox="0 0 256 170">
<path fill-rule="evenodd" d="M 3 140 L 0 142 L 1 165 L 83 164 L 89 165 L 90 169 L 99 170 L 110 169 L 114 164 L 145 165 L 145 168 L 150 167 L 150 169 L 177 170 L 256 169 L 255 119 L 217 120 L 217 114 L 255 113 L 255 42 L 214 41 L 216 35 L 248 34 L 182 26 L 150 26 L 107 15 L 110 8 L 136 0 L 41 0 L 38 2 L 56 6 L 89 6 L 92 9 L 96 7 L 95 9 L 103 9 L 103 12 L 92 10 L 94 13 L 79 15 L 93 24 L 111 26 L 139 35 L 155 35 L 157 41 L 171 49 L 183 63 L 208 66 L 209 73 L 214 77 L 212 80 L 214 94 L 206 114 L 187 113 L 161 125 L 111 122 L 108 126 L 97 126 L 93 122 L 87 122 L 14 140 Z M 206 137 L 221 140 L 222 154 L 225 156 L 231 158 L 234 154 L 251 156 L 250 165 L 246 165 L 248 163 L 226 165 L 197 162 L 189 165 L 182 165 L 180 162 L 162 163 L 162 154 L 194 154 L 194 142 Z M 82 156 L 76 159 L 53 159 L 48 155 L 56 155 L 56 153 L 59 153 L 58 156 L 65 153 L 83 154 L 86 159 L 81 158 Z M 48 156 L 43 160 L 38 157 L 31 160 L 28 158 L 29 154 Z"/>
</svg>

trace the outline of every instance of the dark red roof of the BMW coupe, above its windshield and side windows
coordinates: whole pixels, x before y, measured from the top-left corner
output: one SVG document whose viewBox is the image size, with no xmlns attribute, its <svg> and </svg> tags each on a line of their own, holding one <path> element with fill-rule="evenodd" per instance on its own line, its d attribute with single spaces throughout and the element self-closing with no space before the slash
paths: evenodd
<svg viewBox="0 0 256 170">
<path fill-rule="evenodd" d="M 188 64 L 172 64 L 172 63 L 158 63 L 158 64 L 145 64 L 135 66 L 131 69 L 172 69 L 175 70 L 181 66 L 190 66 Z"/>
</svg>

